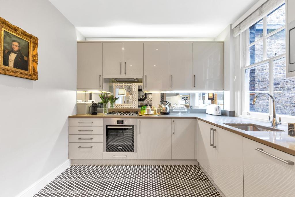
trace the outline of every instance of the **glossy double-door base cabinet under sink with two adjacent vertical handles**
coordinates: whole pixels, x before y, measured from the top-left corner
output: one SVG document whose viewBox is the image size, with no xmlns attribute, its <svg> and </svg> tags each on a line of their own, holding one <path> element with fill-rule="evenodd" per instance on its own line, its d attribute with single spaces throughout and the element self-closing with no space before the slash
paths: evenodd
<svg viewBox="0 0 295 197">
<path fill-rule="evenodd" d="M 199 164 L 224 195 L 243 196 L 242 136 L 198 121 L 198 146 Z"/>
</svg>

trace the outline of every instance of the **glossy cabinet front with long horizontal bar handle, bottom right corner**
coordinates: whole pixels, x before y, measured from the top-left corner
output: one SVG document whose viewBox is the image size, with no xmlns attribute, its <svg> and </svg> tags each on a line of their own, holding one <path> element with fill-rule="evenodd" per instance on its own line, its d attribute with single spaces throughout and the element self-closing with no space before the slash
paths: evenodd
<svg viewBox="0 0 295 197">
<path fill-rule="evenodd" d="M 244 196 L 294 196 L 295 166 L 259 150 L 295 162 L 293 155 L 243 137 Z"/>
</svg>

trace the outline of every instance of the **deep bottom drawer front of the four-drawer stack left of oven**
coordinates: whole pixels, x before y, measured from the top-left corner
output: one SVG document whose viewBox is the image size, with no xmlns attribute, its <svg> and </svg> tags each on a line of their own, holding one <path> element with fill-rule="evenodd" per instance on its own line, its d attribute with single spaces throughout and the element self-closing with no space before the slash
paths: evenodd
<svg viewBox="0 0 295 197">
<path fill-rule="evenodd" d="M 102 159 L 102 143 L 69 143 L 69 159 Z"/>
</svg>

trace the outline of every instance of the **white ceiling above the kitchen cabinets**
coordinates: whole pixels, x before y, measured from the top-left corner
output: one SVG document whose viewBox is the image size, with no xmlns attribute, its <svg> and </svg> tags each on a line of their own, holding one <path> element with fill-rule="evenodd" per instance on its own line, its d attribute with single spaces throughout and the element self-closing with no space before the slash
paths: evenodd
<svg viewBox="0 0 295 197">
<path fill-rule="evenodd" d="M 214 38 L 258 0 L 49 0 L 87 38 Z"/>
</svg>

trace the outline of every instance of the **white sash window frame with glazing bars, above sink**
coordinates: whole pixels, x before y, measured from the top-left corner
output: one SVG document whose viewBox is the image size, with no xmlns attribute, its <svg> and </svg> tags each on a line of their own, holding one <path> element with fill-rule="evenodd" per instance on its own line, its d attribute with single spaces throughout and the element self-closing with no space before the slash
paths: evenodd
<svg viewBox="0 0 295 197">
<path fill-rule="evenodd" d="M 284 4 L 285 2 L 283 2 L 282 4 Z M 280 4 L 279 6 L 281 6 L 282 4 Z M 278 7 L 279 7 L 278 6 Z M 286 7 L 287 9 L 287 7 Z M 268 37 L 276 34 L 277 32 L 280 32 L 283 29 L 286 29 L 286 25 L 278 28 L 277 30 L 267 34 L 267 25 L 266 25 L 266 17 L 263 17 L 263 36 L 262 38 L 256 40 L 255 42 L 249 44 L 249 28 L 247 30 L 245 30 L 242 34 L 240 34 L 240 36 L 242 37 L 240 40 L 240 45 L 242 45 L 242 47 L 240 48 L 241 51 L 241 57 L 242 57 L 242 61 L 241 61 L 241 67 L 240 67 L 240 114 L 238 114 L 240 117 L 243 118 L 253 118 L 253 119 L 259 119 L 262 121 L 268 121 L 269 119 L 269 115 L 271 116 L 272 119 L 272 102 L 271 99 L 269 99 L 269 112 L 268 113 L 259 113 L 259 112 L 250 112 L 249 107 L 246 107 L 246 105 L 248 105 L 249 103 L 249 99 L 246 99 L 246 92 L 249 92 L 249 89 L 247 90 L 247 86 L 245 84 L 245 70 L 246 69 L 250 69 L 256 66 L 260 66 L 263 64 L 268 63 L 269 64 L 269 94 L 273 95 L 273 61 L 276 61 L 278 59 L 284 58 L 286 57 L 286 53 L 275 56 L 275 57 L 271 57 L 271 58 L 267 58 L 267 45 L 266 45 L 266 40 Z M 255 45 L 256 43 L 259 42 L 263 42 L 263 61 L 260 61 L 258 63 L 255 64 L 251 64 L 249 65 L 249 47 Z M 287 64 L 287 61 L 286 61 Z M 239 65 L 236 65 L 239 66 Z M 248 97 L 247 97 L 248 98 Z M 288 123 L 288 122 L 294 122 L 295 121 L 295 117 L 291 116 L 291 115 L 280 115 L 277 114 L 277 117 L 281 116 L 282 117 L 282 123 Z"/>
</svg>

